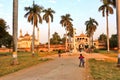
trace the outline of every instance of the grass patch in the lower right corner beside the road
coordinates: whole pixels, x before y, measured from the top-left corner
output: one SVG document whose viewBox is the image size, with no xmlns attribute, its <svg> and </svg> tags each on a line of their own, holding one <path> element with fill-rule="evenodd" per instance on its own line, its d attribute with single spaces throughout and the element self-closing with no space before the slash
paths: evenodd
<svg viewBox="0 0 120 80">
<path fill-rule="evenodd" d="M 89 60 L 90 73 L 94 80 L 120 80 L 120 68 L 116 66 L 115 62 Z"/>
</svg>

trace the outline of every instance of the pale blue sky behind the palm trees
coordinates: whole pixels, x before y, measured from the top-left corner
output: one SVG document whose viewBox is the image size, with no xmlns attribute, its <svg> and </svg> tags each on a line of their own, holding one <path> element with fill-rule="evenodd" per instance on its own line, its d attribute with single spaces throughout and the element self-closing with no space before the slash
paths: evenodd
<svg viewBox="0 0 120 80">
<path fill-rule="evenodd" d="M 8 2 L 9 1 L 9 2 Z M 23 35 L 26 33 L 32 34 L 33 25 L 27 22 L 27 18 L 24 17 L 26 11 L 25 7 L 32 6 L 33 0 L 18 0 L 18 37 L 20 29 Z M 76 29 L 76 36 L 81 33 L 86 33 L 85 21 L 89 18 L 93 18 L 98 22 L 96 31 L 94 32 L 94 39 L 98 39 L 100 34 L 106 34 L 106 18 L 102 16 L 102 12 L 98 11 L 98 8 L 102 5 L 100 0 L 34 0 L 35 4 L 43 6 L 45 9 L 52 8 L 55 11 L 53 14 L 53 22 L 50 25 L 50 35 L 57 32 L 60 37 L 65 34 L 65 28 L 61 26 L 61 16 L 70 14 L 73 19 L 73 27 Z M 9 25 L 7 30 L 12 35 L 12 11 L 13 0 L 0 0 L 0 18 L 6 21 Z M 43 14 L 41 14 L 42 16 Z M 116 34 L 116 11 L 114 14 L 109 15 L 109 37 L 112 34 Z M 40 43 L 46 43 L 48 41 L 48 24 L 43 21 L 38 25 L 40 29 Z"/>
</svg>

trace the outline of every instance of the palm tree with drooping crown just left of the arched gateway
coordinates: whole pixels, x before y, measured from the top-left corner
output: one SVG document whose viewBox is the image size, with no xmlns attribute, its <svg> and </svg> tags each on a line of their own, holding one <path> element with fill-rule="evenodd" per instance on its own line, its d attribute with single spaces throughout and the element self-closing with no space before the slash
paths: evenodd
<svg viewBox="0 0 120 80">
<path fill-rule="evenodd" d="M 61 16 L 60 24 L 64 26 L 66 30 L 65 50 L 67 50 L 67 30 L 72 26 L 71 21 L 73 21 L 73 19 L 70 18 L 70 14 Z"/>
</svg>

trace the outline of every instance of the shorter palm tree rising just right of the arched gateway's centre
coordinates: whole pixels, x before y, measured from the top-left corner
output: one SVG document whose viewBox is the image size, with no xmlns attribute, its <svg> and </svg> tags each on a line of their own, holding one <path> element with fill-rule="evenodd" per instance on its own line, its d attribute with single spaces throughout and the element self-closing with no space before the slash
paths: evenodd
<svg viewBox="0 0 120 80">
<path fill-rule="evenodd" d="M 92 42 L 92 46 L 93 46 L 93 35 L 98 26 L 98 23 L 95 19 L 90 18 L 88 21 L 85 22 L 85 25 L 86 25 L 87 35 L 90 38 L 90 42 Z M 91 47 L 91 44 L 90 44 L 90 47 Z"/>
</svg>

